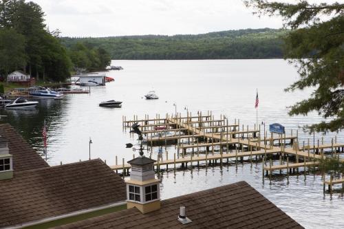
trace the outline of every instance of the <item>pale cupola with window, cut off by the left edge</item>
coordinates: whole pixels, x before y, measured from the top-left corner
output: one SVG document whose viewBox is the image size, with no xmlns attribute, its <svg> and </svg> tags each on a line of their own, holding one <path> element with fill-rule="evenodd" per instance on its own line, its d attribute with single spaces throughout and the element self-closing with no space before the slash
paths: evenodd
<svg viewBox="0 0 344 229">
<path fill-rule="evenodd" d="M 13 157 L 8 149 L 8 140 L 0 136 L 0 179 L 13 177 Z"/>
</svg>

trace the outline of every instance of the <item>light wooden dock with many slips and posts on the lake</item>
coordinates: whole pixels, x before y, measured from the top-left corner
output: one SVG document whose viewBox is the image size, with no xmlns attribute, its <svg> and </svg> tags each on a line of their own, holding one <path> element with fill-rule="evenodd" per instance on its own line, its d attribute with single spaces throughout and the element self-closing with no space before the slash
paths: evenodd
<svg viewBox="0 0 344 229">
<path fill-rule="evenodd" d="M 160 166 L 176 169 L 186 168 L 188 164 L 191 167 L 200 166 L 200 163 L 202 166 L 222 166 L 224 163 L 252 163 L 260 160 L 263 162 L 263 175 L 265 173 L 271 177 L 275 175 L 274 171 L 279 171 L 279 174 L 286 171 L 289 175 L 298 172 L 299 168 L 303 168 L 304 172 L 306 168 L 316 169 L 319 160 L 325 158 L 326 154 L 330 153 L 337 157 L 339 153 L 344 152 L 344 143 L 337 142 L 336 138 L 331 140 L 331 144 L 324 144 L 322 138 L 321 144 L 320 140 L 317 140 L 316 145 L 311 145 L 308 140 L 300 146 L 298 131 L 294 131 L 293 134 L 291 130 L 288 135 L 268 135 L 267 131 L 261 131 L 260 125 L 240 125 L 239 119 L 230 123 L 228 118 L 222 115 L 215 119 L 211 111 L 208 111 L 207 115 L 202 115 L 199 111 L 197 116 L 192 116 L 188 112 L 186 116 L 180 113 L 176 116 L 166 113 L 165 118 L 158 114 L 155 118 L 145 116 L 144 119 L 133 116 L 133 120 L 122 117 L 124 130 L 136 122 L 140 124 L 144 134 L 144 143 L 149 146 L 147 153 L 150 157 L 155 146 L 165 146 L 167 149 L 168 145 L 175 145 L 176 153 L 166 151 L 164 156 L 158 155 L 154 164 L 156 171 L 160 170 Z M 129 174 L 130 165 L 126 164 L 124 159 L 122 163 L 118 163 L 116 157 L 116 164 L 111 168 L 116 173 L 122 171 L 122 175 L 125 176 Z M 331 185 L 337 183 L 341 183 L 341 180 L 332 180 Z"/>
</svg>

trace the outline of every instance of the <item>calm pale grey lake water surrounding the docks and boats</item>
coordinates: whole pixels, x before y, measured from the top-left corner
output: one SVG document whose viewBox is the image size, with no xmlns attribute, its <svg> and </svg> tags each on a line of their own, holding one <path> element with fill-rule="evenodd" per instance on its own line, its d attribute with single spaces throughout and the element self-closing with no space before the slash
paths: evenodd
<svg viewBox="0 0 344 229">
<path fill-rule="evenodd" d="M 135 144 L 122 129 L 122 116 L 150 118 L 156 113 L 164 117 L 178 112 L 186 116 L 186 109 L 196 114 L 213 111 L 215 116 L 225 114 L 230 122 L 240 124 L 256 122 L 255 96 L 259 91 L 259 122 L 266 125 L 278 122 L 290 130 L 299 129 L 299 142 L 313 136 L 303 133 L 305 124 L 319 122 L 316 113 L 309 116 L 288 116 L 288 106 L 307 98 L 311 90 L 286 93 L 284 88 L 297 80 L 297 69 L 283 60 L 204 60 L 204 61 L 113 61 L 124 70 L 107 72 L 115 82 L 105 87 L 92 87 L 91 94 L 66 95 L 63 100 L 39 100 L 39 107 L 31 111 L 1 110 L 1 122 L 12 124 L 37 151 L 43 147 L 42 128 L 47 122 L 48 162 L 57 165 L 88 160 L 89 138 L 92 138 L 91 157 L 115 164 L 122 158 L 131 160 L 132 149 L 125 143 Z M 155 90 L 159 100 L 143 97 Z M 98 107 L 105 100 L 121 100 L 122 108 Z M 295 133 L 295 132 L 294 132 Z M 327 133 L 325 142 L 337 135 L 344 142 L 343 133 Z M 321 138 L 317 134 L 316 140 Z M 175 153 L 175 147 L 167 149 Z M 156 157 L 157 149 L 153 157 Z M 136 153 L 138 155 L 138 153 Z M 261 164 L 238 164 L 189 168 L 182 171 L 162 171 L 161 195 L 163 199 L 193 193 L 198 190 L 222 186 L 245 180 L 259 190 L 279 208 L 296 219 L 305 228 L 344 228 L 344 201 L 341 193 L 323 194 L 319 175 L 294 175 L 263 178 Z"/>
</svg>

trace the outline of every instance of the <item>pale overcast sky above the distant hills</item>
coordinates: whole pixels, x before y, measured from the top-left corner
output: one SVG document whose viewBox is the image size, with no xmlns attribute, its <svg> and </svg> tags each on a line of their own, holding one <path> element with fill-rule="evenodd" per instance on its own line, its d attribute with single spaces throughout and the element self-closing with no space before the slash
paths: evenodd
<svg viewBox="0 0 344 229">
<path fill-rule="evenodd" d="M 32 0 L 62 36 L 200 34 L 281 28 L 281 19 L 252 15 L 241 0 Z"/>
</svg>

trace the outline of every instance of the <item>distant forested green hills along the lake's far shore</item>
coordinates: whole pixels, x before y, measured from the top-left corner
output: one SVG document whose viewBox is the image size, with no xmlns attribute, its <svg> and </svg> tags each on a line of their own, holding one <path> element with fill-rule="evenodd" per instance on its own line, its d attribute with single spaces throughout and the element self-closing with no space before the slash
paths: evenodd
<svg viewBox="0 0 344 229">
<path fill-rule="evenodd" d="M 281 36 L 286 32 L 264 28 L 175 36 L 63 37 L 62 43 L 101 47 L 116 60 L 283 58 Z"/>
</svg>

